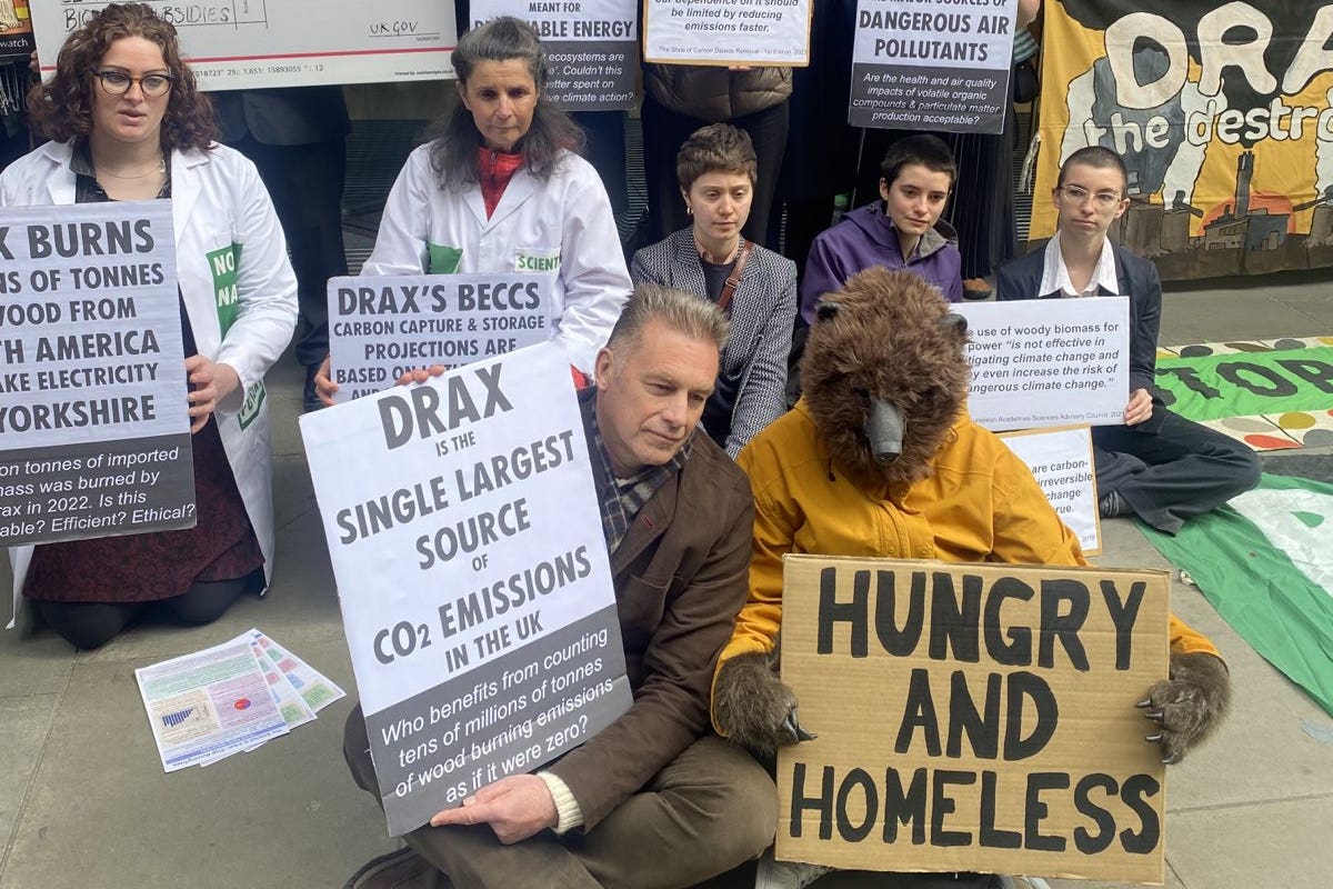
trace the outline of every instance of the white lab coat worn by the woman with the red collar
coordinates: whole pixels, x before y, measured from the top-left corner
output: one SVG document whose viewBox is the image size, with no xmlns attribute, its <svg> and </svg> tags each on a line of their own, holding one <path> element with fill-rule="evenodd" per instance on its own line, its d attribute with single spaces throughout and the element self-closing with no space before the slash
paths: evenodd
<svg viewBox="0 0 1333 889">
<path fill-rule="evenodd" d="M 361 273 L 427 273 L 429 245 L 461 249 L 455 272 L 525 272 L 557 261 L 555 340 L 581 371 L 592 371 L 633 289 L 601 177 L 571 152 L 545 183 L 520 167 L 487 219 L 480 185 L 441 189 L 431 144 L 421 145 L 393 183 Z"/>
</svg>

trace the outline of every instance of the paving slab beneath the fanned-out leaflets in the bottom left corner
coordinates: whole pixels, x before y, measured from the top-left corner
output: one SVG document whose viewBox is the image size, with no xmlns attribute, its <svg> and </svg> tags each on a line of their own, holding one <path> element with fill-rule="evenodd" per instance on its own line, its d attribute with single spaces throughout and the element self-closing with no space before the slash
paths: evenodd
<svg viewBox="0 0 1333 889">
<path fill-rule="evenodd" d="M 296 653 L 352 688 L 341 642 Z M 165 774 L 133 676 L 151 662 L 75 668 L 0 888 L 337 886 L 395 848 L 343 764 L 355 696 L 252 753 Z"/>
</svg>

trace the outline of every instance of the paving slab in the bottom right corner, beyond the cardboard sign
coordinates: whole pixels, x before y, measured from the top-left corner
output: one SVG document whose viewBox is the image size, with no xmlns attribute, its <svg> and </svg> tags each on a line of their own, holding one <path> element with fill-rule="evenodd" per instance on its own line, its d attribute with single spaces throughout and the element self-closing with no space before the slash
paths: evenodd
<svg viewBox="0 0 1333 889">
<path fill-rule="evenodd" d="M 1318 889 L 1333 874 L 1330 824 L 1330 796 L 1222 806 L 1173 814 L 1166 848 L 1184 889 Z"/>
</svg>

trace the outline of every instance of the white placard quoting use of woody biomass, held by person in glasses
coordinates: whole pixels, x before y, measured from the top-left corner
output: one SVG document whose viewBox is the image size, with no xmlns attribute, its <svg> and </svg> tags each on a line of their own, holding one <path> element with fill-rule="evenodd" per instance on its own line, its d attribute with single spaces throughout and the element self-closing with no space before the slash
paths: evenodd
<svg viewBox="0 0 1333 889">
<path fill-rule="evenodd" d="M 1129 297 L 960 303 L 968 413 L 993 432 L 1114 425 L 1129 403 Z"/>
</svg>

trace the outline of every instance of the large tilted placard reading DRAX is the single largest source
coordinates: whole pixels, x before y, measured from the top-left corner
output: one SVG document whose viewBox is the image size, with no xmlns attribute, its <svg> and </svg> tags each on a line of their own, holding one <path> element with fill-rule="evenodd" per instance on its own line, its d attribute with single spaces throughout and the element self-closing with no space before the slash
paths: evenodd
<svg viewBox="0 0 1333 889">
<path fill-rule="evenodd" d="M 301 436 L 389 833 L 629 708 L 559 345 L 308 413 Z"/>
</svg>

